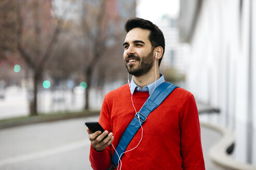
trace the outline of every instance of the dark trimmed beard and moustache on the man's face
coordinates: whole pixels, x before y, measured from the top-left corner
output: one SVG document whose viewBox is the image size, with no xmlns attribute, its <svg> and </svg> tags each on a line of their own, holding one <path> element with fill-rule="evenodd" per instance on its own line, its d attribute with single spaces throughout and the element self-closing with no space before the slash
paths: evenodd
<svg viewBox="0 0 256 170">
<path fill-rule="evenodd" d="M 129 60 L 130 58 L 138 60 L 139 65 L 136 68 L 134 64 L 130 64 L 128 66 L 127 63 L 125 62 L 125 66 L 127 68 L 128 73 L 136 77 L 143 76 L 147 74 L 148 71 L 153 66 L 153 63 L 154 63 L 153 49 L 147 56 L 142 56 L 141 58 L 134 55 L 128 55 L 126 61 Z"/>
</svg>

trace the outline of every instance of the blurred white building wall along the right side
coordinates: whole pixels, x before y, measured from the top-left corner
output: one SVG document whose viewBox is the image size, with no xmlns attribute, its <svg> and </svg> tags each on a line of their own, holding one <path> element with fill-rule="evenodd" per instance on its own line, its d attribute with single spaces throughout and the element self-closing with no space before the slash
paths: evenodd
<svg viewBox="0 0 256 170">
<path fill-rule="evenodd" d="M 216 123 L 235 132 L 234 157 L 256 165 L 256 2 L 181 0 L 180 30 L 191 45 L 187 88 L 221 109 Z"/>
</svg>

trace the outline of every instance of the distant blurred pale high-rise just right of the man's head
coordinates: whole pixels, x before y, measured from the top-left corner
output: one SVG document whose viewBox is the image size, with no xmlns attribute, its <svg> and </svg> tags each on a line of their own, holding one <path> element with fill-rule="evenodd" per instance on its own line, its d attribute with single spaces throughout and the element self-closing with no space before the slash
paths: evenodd
<svg viewBox="0 0 256 170">
<path fill-rule="evenodd" d="M 164 74 L 167 81 L 185 88 L 184 75 L 190 46 L 188 43 L 181 43 L 177 22 L 177 16 L 163 15 L 154 24 L 163 32 L 165 39 L 165 51 L 160 72 Z"/>
</svg>

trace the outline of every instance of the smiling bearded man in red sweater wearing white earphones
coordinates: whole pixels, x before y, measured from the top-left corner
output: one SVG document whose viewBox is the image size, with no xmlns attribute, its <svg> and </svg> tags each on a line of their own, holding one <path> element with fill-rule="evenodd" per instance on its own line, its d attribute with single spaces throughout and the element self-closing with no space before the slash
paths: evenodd
<svg viewBox="0 0 256 170">
<path fill-rule="evenodd" d="M 125 24 L 123 59 L 130 83 L 109 92 L 99 123 L 106 130 L 92 133 L 89 160 L 94 169 L 108 169 L 123 132 L 164 77 L 159 66 L 164 53 L 161 30 L 148 20 L 132 18 Z M 106 138 L 104 138 L 107 136 Z M 110 145 L 112 144 L 112 145 Z M 131 150 L 132 149 L 132 150 Z M 204 169 L 195 99 L 176 88 L 147 117 L 127 146 L 119 164 L 125 169 Z"/>
</svg>

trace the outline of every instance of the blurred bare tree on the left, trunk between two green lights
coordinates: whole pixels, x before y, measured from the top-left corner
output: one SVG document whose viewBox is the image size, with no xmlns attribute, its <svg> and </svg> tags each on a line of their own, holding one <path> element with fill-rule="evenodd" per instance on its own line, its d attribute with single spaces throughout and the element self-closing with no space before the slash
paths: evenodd
<svg viewBox="0 0 256 170">
<path fill-rule="evenodd" d="M 31 116 L 37 115 L 37 84 L 61 30 L 61 20 L 50 14 L 50 3 L 50 0 L 17 2 L 17 50 L 33 73 Z"/>
</svg>

